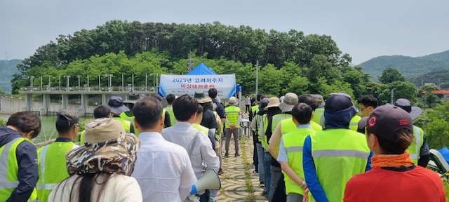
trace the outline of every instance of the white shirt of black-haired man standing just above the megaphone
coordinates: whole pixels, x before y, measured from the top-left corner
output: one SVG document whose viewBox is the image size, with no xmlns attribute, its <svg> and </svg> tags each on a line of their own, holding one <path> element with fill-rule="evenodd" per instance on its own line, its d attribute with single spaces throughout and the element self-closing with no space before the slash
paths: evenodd
<svg viewBox="0 0 449 202">
<path fill-rule="evenodd" d="M 175 126 L 162 130 L 163 138 L 184 147 L 187 152 L 189 152 L 190 145 L 192 145 L 196 134 L 198 134 L 199 138 L 196 141 L 192 155 L 190 155 L 190 161 L 192 168 L 194 168 L 196 178 L 199 178 L 203 175 L 206 168 L 216 171 L 220 167 L 220 160 L 217 154 L 215 154 L 212 144 L 210 144 L 208 135 L 195 129 L 189 122 L 184 121 L 177 121 Z"/>
</svg>

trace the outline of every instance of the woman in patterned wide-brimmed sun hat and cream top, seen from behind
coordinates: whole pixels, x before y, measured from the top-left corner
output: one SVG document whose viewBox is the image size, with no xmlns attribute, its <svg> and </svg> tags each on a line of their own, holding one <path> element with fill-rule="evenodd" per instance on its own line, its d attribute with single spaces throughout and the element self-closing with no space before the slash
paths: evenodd
<svg viewBox="0 0 449 202">
<path fill-rule="evenodd" d="M 67 153 L 70 177 L 56 185 L 48 201 L 142 201 L 130 177 L 140 140 L 120 121 L 101 118 L 86 123 L 86 143 Z"/>
</svg>

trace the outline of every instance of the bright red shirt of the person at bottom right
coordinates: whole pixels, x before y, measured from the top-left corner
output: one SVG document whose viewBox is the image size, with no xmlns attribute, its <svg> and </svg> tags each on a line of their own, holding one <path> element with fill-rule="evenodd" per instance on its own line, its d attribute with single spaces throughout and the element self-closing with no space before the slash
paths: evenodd
<svg viewBox="0 0 449 202">
<path fill-rule="evenodd" d="M 415 166 L 401 171 L 373 168 L 346 184 L 344 201 L 445 201 L 443 181 L 434 171 Z"/>
</svg>

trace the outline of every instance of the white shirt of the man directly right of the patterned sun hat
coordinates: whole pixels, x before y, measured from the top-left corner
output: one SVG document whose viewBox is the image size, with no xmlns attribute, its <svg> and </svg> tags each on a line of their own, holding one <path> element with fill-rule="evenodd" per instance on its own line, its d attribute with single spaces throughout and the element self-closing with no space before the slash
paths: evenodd
<svg viewBox="0 0 449 202">
<path fill-rule="evenodd" d="M 132 177 L 138 180 L 143 201 L 184 201 L 196 182 L 189 155 L 183 147 L 159 133 L 140 133 Z M 187 193 L 180 190 L 187 189 Z M 186 191 L 183 191 L 186 192 Z"/>
</svg>

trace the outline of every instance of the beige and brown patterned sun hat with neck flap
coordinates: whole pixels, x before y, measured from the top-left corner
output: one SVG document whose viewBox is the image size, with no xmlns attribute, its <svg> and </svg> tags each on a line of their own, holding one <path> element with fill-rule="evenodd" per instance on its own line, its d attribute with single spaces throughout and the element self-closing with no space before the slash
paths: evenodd
<svg viewBox="0 0 449 202">
<path fill-rule="evenodd" d="M 66 155 L 69 175 L 117 173 L 131 175 L 140 140 L 126 133 L 120 121 L 101 118 L 86 123 L 84 147 Z"/>
</svg>

